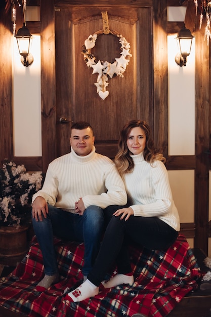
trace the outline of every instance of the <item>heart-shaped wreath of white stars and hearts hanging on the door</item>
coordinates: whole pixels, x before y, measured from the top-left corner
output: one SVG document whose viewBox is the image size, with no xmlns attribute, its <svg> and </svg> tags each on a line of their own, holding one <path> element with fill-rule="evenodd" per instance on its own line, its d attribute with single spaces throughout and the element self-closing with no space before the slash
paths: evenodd
<svg viewBox="0 0 211 317">
<path fill-rule="evenodd" d="M 113 77 L 114 74 L 123 77 L 123 73 L 126 70 L 132 54 L 130 53 L 130 43 L 126 41 L 126 38 L 115 31 L 110 30 L 109 33 L 119 37 L 119 43 L 121 44 L 121 57 L 115 58 L 115 62 L 109 63 L 107 61 L 96 61 L 96 57 L 91 53 L 91 49 L 94 48 L 97 36 L 103 34 L 104 32 L 98 31 L 93 35 L 91 34 L 85 41 L 85 45 L 82 46 L 82 54 L 84 56 L 85 62 L 88 68 L 93 68 L 93 74 L 98 73 L 97 83 L 97 93 L 103 100 L 108 97 L 109 92 L 106 90 L 108 86 L 108 76 Z"/>
</svg>

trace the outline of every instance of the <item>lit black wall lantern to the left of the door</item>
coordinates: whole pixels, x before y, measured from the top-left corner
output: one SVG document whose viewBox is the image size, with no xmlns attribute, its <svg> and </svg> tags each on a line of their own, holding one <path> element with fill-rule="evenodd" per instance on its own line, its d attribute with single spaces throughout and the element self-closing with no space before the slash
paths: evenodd
<svg viewBox="0 0 211 317">
<path fill-rule="evenodd" d="M 20 28 L 15 35 L 18 43 L 18 50 L 21 55 L 21 62 L 24 66 L 28 67 L 33 63 L 33 56 L 29 53 L 32 35 L 30 34 L 26 23 L 23 23 L 22 28 Z"/>
</svg>

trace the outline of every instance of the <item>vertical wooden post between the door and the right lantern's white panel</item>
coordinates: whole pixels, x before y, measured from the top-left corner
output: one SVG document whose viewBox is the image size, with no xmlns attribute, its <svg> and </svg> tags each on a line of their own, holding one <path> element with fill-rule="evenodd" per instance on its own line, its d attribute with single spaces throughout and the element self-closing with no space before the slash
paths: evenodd
<svg viewBox="0 0 211 317">
<path fill-rule="evenodd" d="M 168 66 L 166 1 L 153 1 L 154 141 L 165 157 L 168 154 Z"/>
</svg>

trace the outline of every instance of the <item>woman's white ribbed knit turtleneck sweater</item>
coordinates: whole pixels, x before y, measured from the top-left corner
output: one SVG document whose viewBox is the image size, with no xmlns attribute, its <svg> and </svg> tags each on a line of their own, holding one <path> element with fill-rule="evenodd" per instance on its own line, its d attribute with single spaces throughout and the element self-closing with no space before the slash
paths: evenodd
<svg viewBox="0 0 211 317">
<path fill-rule="evenodd" d="M 144 160 L 143 152 L 131 155 L 134 171 L 123 177 L 132 201 L 135 216 L 158 217 L 176 231 L 180 230 L 178 210 L 174 204 L 167 170 L 161 161 L 152 165 Z"/>
</svg>

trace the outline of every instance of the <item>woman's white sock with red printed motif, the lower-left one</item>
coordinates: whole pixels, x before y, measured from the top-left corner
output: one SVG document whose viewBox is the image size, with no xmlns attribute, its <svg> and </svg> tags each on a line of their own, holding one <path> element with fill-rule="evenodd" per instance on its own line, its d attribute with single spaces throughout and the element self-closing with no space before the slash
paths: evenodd
<svg viewBox="0 0 211 317">
<path fill-rule="evenodd" d="M 73 302 L 81 302 L 87 298 L 93 297 L 99 293 L 99 287 L 94 285 L 89 280 L 83 282 L 74 291 L 68 293 L 67 295 L 73 300 Z M 66 297 L 66 299 L 68 299 Z"/>
</svg>

